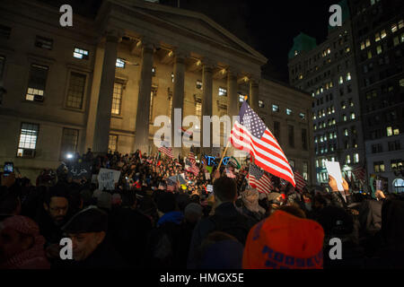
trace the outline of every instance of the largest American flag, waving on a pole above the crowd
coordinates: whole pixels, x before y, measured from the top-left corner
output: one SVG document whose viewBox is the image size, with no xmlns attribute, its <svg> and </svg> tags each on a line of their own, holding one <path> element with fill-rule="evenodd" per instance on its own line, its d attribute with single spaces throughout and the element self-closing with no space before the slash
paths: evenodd
<svg viewBox="0 0 404 287">
<path fill-rule="evenodd" d="M 259 116 L 250 108 L 247 101 L 240 109 L 240 122 L 235 121 L 230 141 L 236 149 L 250 152 L 255 164 L 263 170 L 289 181 L 294 187 L 294 172 L 285 157 L 277 139 L 265 126 Z"/>
</svg>

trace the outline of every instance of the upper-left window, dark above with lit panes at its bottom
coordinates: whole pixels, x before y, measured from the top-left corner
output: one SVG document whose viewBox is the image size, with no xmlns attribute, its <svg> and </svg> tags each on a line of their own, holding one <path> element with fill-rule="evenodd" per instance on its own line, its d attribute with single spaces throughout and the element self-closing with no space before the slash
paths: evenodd
<svg viewBox="0 0 404 287">
<path fill-rule="evenodd" d="M 25 100 L 43 101 L 48 77 L 48 66 L 31 65 L 30 80 Z"/>
</svg>

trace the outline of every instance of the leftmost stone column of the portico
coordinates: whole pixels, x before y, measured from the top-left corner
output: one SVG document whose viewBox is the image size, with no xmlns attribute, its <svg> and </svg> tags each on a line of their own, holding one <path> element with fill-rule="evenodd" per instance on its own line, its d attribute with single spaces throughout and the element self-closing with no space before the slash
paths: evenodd
<svg viewBox="0 0 404 287">
<path fill-rule="evenodd" d="M 108 152 L 108 143 L 110 139 L 110 115 L 119 40 L 120 34 L 118 31 L 110 30 L 107 32 L 104 48 L 104 60 L 102 65 L 100 94 L 92 142 L 92 151 L 96 153 Z"/>
</svg>

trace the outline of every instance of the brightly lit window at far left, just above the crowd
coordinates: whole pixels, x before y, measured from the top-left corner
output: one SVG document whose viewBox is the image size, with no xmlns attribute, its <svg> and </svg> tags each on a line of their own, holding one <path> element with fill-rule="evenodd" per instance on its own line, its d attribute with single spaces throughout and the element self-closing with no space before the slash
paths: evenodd
<svg viewBox="0 0 404 287">
<path fill-rule="evenodd" d="M 22 123 L 20 140 L 18 142 L 18 157 L 33 157 L 37 145 L 40 125 L 31 123 Z"/>
</svg>

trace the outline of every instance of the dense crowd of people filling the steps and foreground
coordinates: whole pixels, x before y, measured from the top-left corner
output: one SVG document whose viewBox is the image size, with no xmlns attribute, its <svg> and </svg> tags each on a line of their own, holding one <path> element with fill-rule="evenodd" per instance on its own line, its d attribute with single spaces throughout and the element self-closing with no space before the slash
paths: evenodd
<svg viewBox="0 0 404 287">
<path fill-rule="evenodd" d="M 91 177 L 72 176 L 77 163 L 88 163 Z M 328 190 L 297 190 L 273 177 L 273 190 L 259 193 L 248 166 L 217 168 L 200 162 L 193 173 L 162 154 L 88 151 L 43 170 L 35 185 L 2 175 L 0 269 L 404 266 L 402 196 L 364 196 L 345 180 L 339 192 L 331 177 Z M 99 189 L 101 169 L 120 171 L 113 190 Z M 180 174 L 185 182 L 172 180 Z M 335 238 L 341 259 L 329 256 Z"/>
</svg>

